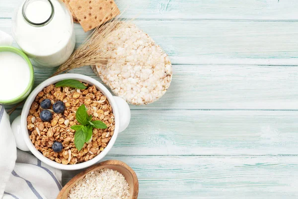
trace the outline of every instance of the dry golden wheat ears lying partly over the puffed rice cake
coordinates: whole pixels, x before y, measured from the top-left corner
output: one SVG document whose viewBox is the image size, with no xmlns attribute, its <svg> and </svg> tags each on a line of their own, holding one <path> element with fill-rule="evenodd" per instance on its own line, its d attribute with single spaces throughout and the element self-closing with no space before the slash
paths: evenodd
<svg viewBox="0 0 298 199">
<path fill-rule="evenodd" d="M 107 13 L 108 16 L 111 12 Z M 124 12 L 122 12 L 123 14 Z M 74 51 L 70 58 L 63 63 L 56 73 L 51 77 L 58 75 L 62 72 L 67 72 L 74 68 L 79 68 L 88 65 L 105 66 L 110 58 L 110 52 L 102 51 L 102 47 L 106 40 L 116 34 L 117 29 L 120 29 L 121 15 L 118 15 L 108 23 L 98 26 L 95 30 L 85 39 L 85 41 Z M 104 16 L 104 18 L 106 17 Z"/>
</svg>

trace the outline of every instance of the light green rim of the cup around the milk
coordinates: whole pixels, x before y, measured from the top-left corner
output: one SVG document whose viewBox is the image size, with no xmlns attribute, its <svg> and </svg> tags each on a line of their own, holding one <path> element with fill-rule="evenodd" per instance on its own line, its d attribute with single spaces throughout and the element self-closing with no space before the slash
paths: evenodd
<svg viewBox="0 0 298 199">
<path fill-rule="evenodd" d="M 25 53 L 23 53 L 23 51 L 21 51 L 18 48 L 11 47 L 11 46 L 0 46 L 0 52 L 13 52 L 13 53 L 21 56 L 27 62 L 29 70 L 30 70 L 30 81 L 29 81 L 29 84 L 26 87 L 25 91 L 22 94 L 20 94 L 19 96 L 17 96 L 14 99 L 11 99 L 11 100 L 1 100 L 0 99 L 0 103 L 2 103 L 2 104 L 6 104 L 6 105 L 15 104 L 22 100 L 25 100 L 28 97 L 28 95 L 30 94 L 30 92 L 32 91 L 33 84 L 34 84 L 33 66 L 31 64 L 31 61 L 27 57 L 27 55 L 25 55 Z"/>
</svg>

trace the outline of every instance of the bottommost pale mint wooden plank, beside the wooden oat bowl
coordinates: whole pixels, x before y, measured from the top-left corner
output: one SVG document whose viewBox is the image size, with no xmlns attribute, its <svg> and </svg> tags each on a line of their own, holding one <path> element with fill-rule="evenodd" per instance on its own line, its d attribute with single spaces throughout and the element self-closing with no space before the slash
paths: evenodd
<svg viewBox="0 0 298 199">
<path fill-rule="evenodd" d="M 298 157 L 107 156 L 131 166 L 139 199 L 297 199 Z M 76 172 L 64 171 L 63 184 Z"/>
</svg>

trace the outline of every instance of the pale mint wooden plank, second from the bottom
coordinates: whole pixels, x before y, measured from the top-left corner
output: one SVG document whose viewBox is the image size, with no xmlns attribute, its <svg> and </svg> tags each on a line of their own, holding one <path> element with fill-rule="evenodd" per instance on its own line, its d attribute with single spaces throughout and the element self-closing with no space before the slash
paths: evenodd
<svg viewBox="0 0 298 199">
<path fill-rule="evenodd" d="M 118 135 L 109 154 L 298 155 L 297 113 L 132 110 L 129 127 Z"/>
</svg>

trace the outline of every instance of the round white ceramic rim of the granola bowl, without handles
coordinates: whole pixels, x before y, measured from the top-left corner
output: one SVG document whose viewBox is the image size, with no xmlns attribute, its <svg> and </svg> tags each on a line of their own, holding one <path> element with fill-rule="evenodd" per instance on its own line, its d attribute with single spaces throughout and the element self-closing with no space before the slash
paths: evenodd
<svg viewBox="0 0 298 199">
<path fill-rule="evenodd" d="M 51 84 L 55 84 L 61 80 L 66 80 L 66 79 L 75 79 L 75 80 L 79 80 L 82 81 L 84 83 L 88 83 L 90 85 L 94 85 L 99 91 L 102 92 L 102 94 L 104 96 L 107 97 L 107 100 L 110 102 L 111 106 L 112 106 L 112 110 L 113 110 L 113 114 L 114 114 L 114 118 L 115 118 L 115 129 L 114 129 L 114 134 L 111 138 L 111 140 L 109 141 L 107 147 L 97 156 L 95 156 L 93 159 L 88 160 L 86 162 L 83 163 L 78 163 L 78 164 L 74 164 L 74 165 L 63 165 L 61 163 L 57 163 L 53 160 L 48 159 L 47 157 L 45 157 L 41 152 L 39 152 L 35 146 L 32 144 L 30 138 L 29 138 L 29 134 L 28 134 L 28 129 L 27 129 L 27 116 L 29 113 L 29 110 L 31 108 L 31 104 L 32 102 L 35 100 L 35 97 L 37 96 L 37 94 L 42 91 L 45 87 L 51 85 Z M 27 147 L 30 149 L 30 151 L 42 162 L 44 162 L 45 164 L 52 166 L 54 168 L 57 169 L 61 169 L 61 170 L 78 170 L 78 169 L 83 169 L 83 168 L 87 168 L 93 164 L 96 164 L 98 161 L 100 161 L 112 148 L 112 146 L 114 145 L 118 132 L 119 132 L 119 110 L 116 104 L 116 101 L 114 100 L 112 94 L 109 92 L 109 90 L 103 86 L 101 83 L 99 83 L 98 81 L 96 81 L 93 78 L 90 78 L 88 76 L 85 75 L 80 75 L 80 74 L 63 74 L 63 75 L 57 75 L 54 76 L 52 78 L 47 79 L 46 81 L 42 82 L 40 85 L 38 85 L 33 91 L 32 93 L 29 95 L 29 97 L 27 98 L 23 110 L 22 110 L 22 114 L 21 114 L 21 130 L 22 130 L 22 134 L 23 134 L 23 138 L 24 141 L 27 145 Z"/>
</svg>

